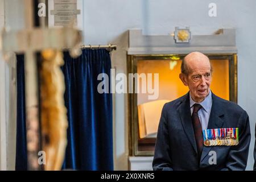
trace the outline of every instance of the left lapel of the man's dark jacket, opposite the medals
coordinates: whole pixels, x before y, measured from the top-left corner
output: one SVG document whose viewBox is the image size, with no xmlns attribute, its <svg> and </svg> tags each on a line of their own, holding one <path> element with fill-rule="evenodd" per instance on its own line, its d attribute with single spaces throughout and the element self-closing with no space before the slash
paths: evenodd
<svg viewBox="0 0 256 182">
<path fill-rule="evenodd" d="M 189 142 L 192 144 L 193 149 L 197 152 L 196 139 L 193 130 L 193 124 L 191 119 L 191 110 L 189 104 L 189 93 L 183 97 L 183 101 L 178 108 L 180 121 L 182 123 L 185 134 L 187 135 Z"/>
</svg>

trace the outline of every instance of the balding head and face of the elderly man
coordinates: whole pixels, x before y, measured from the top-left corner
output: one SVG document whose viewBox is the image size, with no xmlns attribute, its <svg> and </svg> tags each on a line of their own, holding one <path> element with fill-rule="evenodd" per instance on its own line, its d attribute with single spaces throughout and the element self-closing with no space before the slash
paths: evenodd
<svg viewBox="0 0 256 182">
<path fill-rule="evenodd" d="M 181 80 L 184 80 L 184 85 L 188 86 L 192 99 L 195 102 L 201 102 L 208 96 L 212 82 L 209 59 L 201 53 L 191 53 L 185 61 L 189 73 L 183 74 L 184 79 Z"/>
</svg>

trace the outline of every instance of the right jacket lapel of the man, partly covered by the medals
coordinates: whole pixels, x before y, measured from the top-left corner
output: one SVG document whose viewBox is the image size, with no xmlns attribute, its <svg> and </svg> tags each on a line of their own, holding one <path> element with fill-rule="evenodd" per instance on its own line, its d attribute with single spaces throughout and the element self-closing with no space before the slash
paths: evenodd
<svg viewBox="0 0 256 182">
<path fill-rule="evenodd" d="M 221 101 L 212 93 L 212 110 L 210 111 L 210 118 L 208 122 L 207 129 L 219 129 L 222 128 L 224 125 L 224 117 Z M 203 152 L 201 155 L 201 162 L 204 158 L 208 155 L 209 151 L 212 149 L 213 146 L 210 147 L 203 147 Z"/>
</svg>

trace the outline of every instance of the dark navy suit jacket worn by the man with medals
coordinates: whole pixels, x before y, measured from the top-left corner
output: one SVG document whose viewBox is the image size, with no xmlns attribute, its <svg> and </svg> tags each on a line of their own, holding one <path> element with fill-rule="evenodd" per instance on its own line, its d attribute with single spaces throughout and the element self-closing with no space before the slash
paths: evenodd
<svg viewBox="0 0 256 182">
<path fill-rule="evenodd" d="M 164 105 L 156 138 L 154 170 L 245 170 L 250 145 L 249 117 L 233 102 L 212 94 L 208 129 L 238 127 L 237 146 L 203 147 L 200 166 L 197 162 L 189 93 Z M 209 164 L 212 152 L 217 164 Z M 210 154 L 209 154 L 210 152 Z"/>
</svg>

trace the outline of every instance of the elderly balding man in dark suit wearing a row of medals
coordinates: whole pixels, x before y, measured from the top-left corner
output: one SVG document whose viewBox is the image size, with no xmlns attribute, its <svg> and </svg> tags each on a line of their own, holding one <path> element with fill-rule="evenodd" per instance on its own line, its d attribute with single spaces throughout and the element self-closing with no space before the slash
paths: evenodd
<svg viewBox="0 0 256 182">
<path fill-rule="evenodd" d="M 245 170 L 249 117 L 237 104 L 211 92 L 209 58 L 200 52 L 187 55 L 180 80 L 189 93 L 163 107 L 153 169 Z"/>
</svg>

